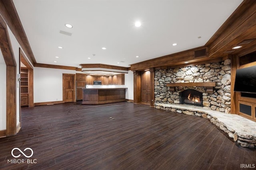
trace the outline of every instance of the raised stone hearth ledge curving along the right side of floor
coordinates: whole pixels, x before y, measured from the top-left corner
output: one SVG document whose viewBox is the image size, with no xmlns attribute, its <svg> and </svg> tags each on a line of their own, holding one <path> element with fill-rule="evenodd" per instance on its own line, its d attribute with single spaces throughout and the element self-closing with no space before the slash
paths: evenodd
<svg viewBox="0 0 256 170">
<path fill-rule="evenodd" d="M 240 115 L 226 114 L 199 106 L 184 104 L 154 104 L 156 109 L 195 115 L 209 119 L 242 147 L 256 149 L 256 122 Z"/>
</svg>

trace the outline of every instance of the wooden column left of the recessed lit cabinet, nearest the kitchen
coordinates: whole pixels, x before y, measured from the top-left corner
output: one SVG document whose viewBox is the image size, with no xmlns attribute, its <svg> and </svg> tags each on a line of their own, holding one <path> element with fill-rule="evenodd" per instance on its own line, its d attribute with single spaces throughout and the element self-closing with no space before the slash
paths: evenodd
<svg viewBox="0 0 256 170">
<path fill-rule="evenodd" d="M 133 72 L 133 102 L 141 102 L 141 75 L 140 71 Z"/>
</svg>

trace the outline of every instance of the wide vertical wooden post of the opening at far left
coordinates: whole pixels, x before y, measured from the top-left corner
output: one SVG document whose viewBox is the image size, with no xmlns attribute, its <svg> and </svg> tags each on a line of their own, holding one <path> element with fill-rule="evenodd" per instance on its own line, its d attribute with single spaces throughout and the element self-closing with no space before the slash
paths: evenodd
<svg viewBox="0 0 256 170">
<path fill-rule="evenodd" d="M 6 66 L 6 135 L 16 134 L 16 66 Z"/>
</svg>

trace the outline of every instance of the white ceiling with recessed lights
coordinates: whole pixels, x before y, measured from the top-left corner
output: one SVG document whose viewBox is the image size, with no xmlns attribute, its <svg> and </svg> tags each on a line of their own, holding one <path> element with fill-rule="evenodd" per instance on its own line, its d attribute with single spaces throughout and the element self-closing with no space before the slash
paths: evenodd
<svg viewBox="0 0 256 170">
<path fill-rule="evenodd" d="M 37 63 L 127 67 L 205 45 L 242 0 L 13 2 Z M 134 26 L 137 20 L 141 21 L 141 27 Z M 73 28 L 65 27 L 65 23 Z M 72 36 L 61 34 L 60 30 Z M 172 46 L 173 43 L 178 45 Z M 136 58 L 137 55 L 140 57 Z"/>
</svg>

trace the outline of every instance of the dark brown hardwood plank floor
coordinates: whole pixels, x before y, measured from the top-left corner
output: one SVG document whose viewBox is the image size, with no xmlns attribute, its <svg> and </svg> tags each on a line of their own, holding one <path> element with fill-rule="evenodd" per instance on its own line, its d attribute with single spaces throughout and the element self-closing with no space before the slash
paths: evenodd
<svg viewBox="0 0 256 170">
<path fill-rule="evenodd" d="M 256 167 L 256 150 L 237 146 L 202 117 L 120 102 L 22 107 L 22 129 L 0 138 L 0 169 L 181 170 Z M 109 117 L 115 119 L 109 119 Z M 13 148 L 31 163 L 8 163 Z M 30 155 L 30 151 L 23 151 Z M 35 160 L 36 159 L 36 160 Z M 250 168 L 249 168 L 250 169 Z"/>
</svg>

